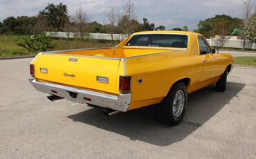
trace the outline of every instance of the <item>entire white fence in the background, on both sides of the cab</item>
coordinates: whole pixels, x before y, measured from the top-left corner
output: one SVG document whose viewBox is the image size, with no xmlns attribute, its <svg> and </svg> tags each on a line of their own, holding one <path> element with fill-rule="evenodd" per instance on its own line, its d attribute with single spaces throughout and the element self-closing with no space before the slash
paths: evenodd
<svg viewBox="0 0 256 159">
<path fill-rule="evenodd" d="M 60 37 L 60 38 L 79 38 L 80 34 L 77 32 L 46 32 L 46 35 L 49 37 Z M 119 40 L 122 41 L 125 39 L 128 35 L 122 35 L 122 34 L 113 34 L 113 40 Z M 111 40 L 111 34 L 102 34 L 102 33 L 89 33 L 89 35 L 86 35 L 85 38 L 88 39 L 102 39 L 102 40 Z M 207 39 L 209 44 L 211 46 L 221 46 L 220 39 Z M 223 41 L 223 46 L 228 48 L 243 48 L 244 40 L 242 39 L 225 39 Z M 256 49 L 255 43 L 250 43 L 249 41 L 246 41 L 246 48 L 250 49 Z"/>
</svg>

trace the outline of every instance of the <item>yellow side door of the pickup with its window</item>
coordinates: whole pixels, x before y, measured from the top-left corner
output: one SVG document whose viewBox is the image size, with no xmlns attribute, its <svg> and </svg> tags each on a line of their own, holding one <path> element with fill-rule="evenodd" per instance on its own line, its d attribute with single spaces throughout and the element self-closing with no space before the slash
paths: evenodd
<svg viewBox="0 0 256 159">
<path fill-rule="evenodd" d="M 203 37 L 198 37 L 200 56 L 203 58 L 203 72 L 201 82 L 219 76 L 221 66 L 219 66 L 219 57 L 212 54 L 212 50 Z"/>
</svg>

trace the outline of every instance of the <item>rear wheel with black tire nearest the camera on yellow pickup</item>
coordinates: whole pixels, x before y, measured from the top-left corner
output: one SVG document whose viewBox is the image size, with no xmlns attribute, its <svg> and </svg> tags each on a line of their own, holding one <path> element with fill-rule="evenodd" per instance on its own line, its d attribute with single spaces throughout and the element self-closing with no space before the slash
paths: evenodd
<svg viewBox="0 0 256 159">
<path fill-rule="evenodd" d="M 167 97 L 156 106 L 156 118 L 165 124 L 179 124 L 185 115 L 187 102 L 188 93 L 185 84 L 183 82 L 174 84 Z"/>
</svg>

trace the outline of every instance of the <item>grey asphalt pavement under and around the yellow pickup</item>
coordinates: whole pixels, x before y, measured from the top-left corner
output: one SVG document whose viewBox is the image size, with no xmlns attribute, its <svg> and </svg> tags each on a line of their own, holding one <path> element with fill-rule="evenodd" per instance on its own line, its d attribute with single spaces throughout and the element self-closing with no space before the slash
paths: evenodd
<svg viewBox="0 0 256 159">
<path fill-rule="evenodd" d="M 28 82 L 31 59 L 0 60 L 0 158 L 256 158 L 256 68 L 235 67 L 226 92 L 189 95 L 181 124 L 152 107 L 111 118 L 51 102 Z"/>
</svg>

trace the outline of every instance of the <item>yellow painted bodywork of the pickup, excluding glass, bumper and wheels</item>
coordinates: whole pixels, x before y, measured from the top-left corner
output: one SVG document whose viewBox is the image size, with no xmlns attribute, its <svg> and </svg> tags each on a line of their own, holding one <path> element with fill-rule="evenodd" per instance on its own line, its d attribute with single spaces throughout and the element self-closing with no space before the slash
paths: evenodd
<svg viewBox="0 0 256 159">
<path fill-rule="evenodd" d="M 125 46 L 133 36 L 130 35 L 116 48 L 39 54 L 32 62 L 35 64 L 35 77 L 78 88 L 118 94 L 119 76 L 131 75 L 131 110 L 161 102 L 172 85 L 181 79 L 188 79 L 188 93 L 217 82 L 227 66 L 233 64 L 232 56 L 228 54 L 200 55 L 197 38 L 201 35 L 197 33 L 151 31 L 137 32 L 134 35 L 145 33 L 188 35 L 188 49 Z M 76 57 L 77 62 L 69 62 L 71 57 Z M 48 74 L 40 73 L 39 68 L 48 68 Z M 75 77 L 65 77 L 63 73 L 74 74 Z M 108 77 L 109 84 L 96 82 L 97 75 Z M 141 78 L 143 83 L 138 84 L 137 80 Z"/>
</svg>

